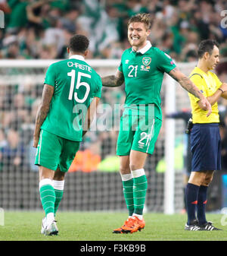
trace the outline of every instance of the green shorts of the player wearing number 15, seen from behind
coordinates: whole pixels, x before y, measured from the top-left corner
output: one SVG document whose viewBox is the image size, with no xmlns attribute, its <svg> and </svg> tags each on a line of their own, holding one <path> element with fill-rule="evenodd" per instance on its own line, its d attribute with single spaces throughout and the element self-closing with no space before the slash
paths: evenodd
<svg viewBox="0 0 227 256">
<path fill-rule="evenodd" d="M 61 172 L 67 172 L 78 150 L 79 141 L 70 141 L 41 130 L 35 164 L 54 171 L 59 166 Z"/>
</svg>

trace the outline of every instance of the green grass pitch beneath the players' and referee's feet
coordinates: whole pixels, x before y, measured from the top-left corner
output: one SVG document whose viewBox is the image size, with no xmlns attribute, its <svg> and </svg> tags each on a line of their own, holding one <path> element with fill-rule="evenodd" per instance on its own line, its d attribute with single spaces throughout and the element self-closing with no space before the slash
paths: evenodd
<svg viewBox="0 0 227 256">
<path fill-rule="evenodd" d="M 56 216 L 59 234 L 40 233 L 42 212 L 5 212 L 4 226 L 0 226 L 0 241 L 226 241 L 227 217 L 222 226 L 222 214 L 207 213 L 207 220 L 222 231 L 184 230 L 185 214 L 165 215 L 145 213 L 145 229 L 133 234 L 113 234 L 121 226 L 126 213 L 59 212 Z"/>
</svg>

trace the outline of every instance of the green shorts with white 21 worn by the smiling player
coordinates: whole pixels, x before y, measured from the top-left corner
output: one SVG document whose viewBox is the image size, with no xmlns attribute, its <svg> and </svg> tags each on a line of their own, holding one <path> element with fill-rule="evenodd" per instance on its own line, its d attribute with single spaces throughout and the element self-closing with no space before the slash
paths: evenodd
<svg viewBox="0 0 227 256">
<path fill-rule="evenodd" d="M 152 154 L 162 121 L 148 115 L 122 115 L 117 139 L 117 156 L 128 156 L 130 150 Z"/>
</svg>

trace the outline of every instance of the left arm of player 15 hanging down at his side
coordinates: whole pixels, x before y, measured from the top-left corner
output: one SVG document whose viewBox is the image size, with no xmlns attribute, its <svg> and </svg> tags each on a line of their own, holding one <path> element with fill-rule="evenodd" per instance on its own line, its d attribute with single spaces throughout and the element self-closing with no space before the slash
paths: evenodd
<svg viewBox="0 0 227 256">
<path fill-rule="evenodd" d="M 45 84 L 42 90 L 42 101 L 36 114 L 36 127 L 33 134 L 33 139 L 34 139 L 33 147 L 38 146 L 40 128 L 46 116 L 48 115 L 53 93 L 54 93 L 54 87 L 51 85 Z"/>
</svg>

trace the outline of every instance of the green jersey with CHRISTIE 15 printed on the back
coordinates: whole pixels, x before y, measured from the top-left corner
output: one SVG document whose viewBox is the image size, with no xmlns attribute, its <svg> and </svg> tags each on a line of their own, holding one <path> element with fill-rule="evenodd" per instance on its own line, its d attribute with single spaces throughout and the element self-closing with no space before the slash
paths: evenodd
<svg viewBox="0 0 227 256">
<path fill-rule="evenodd" d="M 101 97 L 101 77 L 81 55 L 50 65 L 44 84 L 54 87 L 42 129 L 70 141 L 82 141 L 82 123 L 93 98 Z"/>
</svg>

